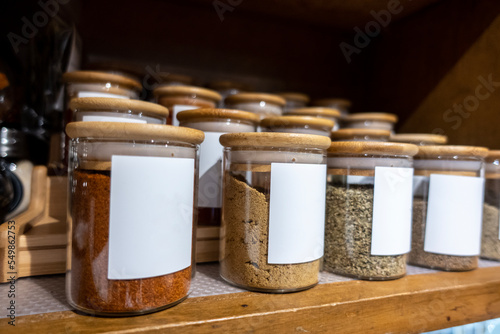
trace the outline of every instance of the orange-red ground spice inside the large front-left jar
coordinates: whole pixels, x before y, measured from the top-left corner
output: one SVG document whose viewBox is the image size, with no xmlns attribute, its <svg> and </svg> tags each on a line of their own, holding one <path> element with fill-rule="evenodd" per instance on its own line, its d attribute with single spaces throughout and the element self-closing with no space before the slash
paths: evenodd
<svg viewBox="0 0 500 334">
<path fill-rule="evenodd" d="M 75 306 L 87 313 L 128 315 L 157 311 L 186 298 L 191 266 L 163 276 L 109 280 L 109 171 L 75 170 L 73 189 L 71 290 Z"/>
</svg>

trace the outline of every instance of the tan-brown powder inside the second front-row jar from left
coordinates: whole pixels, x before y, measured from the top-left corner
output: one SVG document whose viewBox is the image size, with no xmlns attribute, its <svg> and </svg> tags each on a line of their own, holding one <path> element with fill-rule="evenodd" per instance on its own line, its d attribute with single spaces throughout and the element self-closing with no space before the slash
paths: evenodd
<svg viewBox="0 0 500 334">
<path fill-rule="evenodd" d="M 270 182 L 270 173 L 253 174 L 267 174 Z M 232 175 L 226 176 L 225 182 L 221 276 L 257 291 L 302 290 L 317 284 L 320 260 L 299 264 L 267 262 L 269 193 L 262 190 L 269 186 L 256 189 Z"/>
</svg>

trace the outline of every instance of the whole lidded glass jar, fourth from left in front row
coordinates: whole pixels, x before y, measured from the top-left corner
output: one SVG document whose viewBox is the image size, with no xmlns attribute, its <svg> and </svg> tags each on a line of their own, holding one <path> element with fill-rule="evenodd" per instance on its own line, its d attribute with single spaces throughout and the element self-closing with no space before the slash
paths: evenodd
<svg viewBox="0 0 500 334">
<path fill-rule="evenodd" d="M 415 156 L 409 263 L 448 271 L 475 269 L 481 250 L 482 169 L 488 150 L 419 146 Z"/>
</svg>

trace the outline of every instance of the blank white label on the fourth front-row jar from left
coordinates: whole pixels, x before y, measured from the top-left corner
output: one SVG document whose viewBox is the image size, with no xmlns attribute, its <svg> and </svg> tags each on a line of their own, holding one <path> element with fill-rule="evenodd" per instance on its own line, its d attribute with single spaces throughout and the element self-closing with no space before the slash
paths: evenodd
<svg viewBox="0 0 500 334">
<path fill-rule="evenodd" d="M 424 251 L 479 255 L 483 184 L 480 177 L 431 174 Z"/>
</svg>

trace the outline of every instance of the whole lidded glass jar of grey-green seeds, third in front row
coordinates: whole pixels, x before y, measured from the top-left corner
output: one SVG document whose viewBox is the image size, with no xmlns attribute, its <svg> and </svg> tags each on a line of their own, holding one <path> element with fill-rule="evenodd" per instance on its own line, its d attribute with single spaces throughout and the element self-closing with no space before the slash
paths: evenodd
<svg viewBox="0 0 500 334">
<path fill-rule="evenodd" d="M 323 269 L 366 280 L 406 274 L 411 144 L 334 142 L 328 149 Z"/>
</svg>

